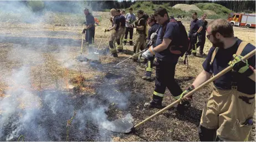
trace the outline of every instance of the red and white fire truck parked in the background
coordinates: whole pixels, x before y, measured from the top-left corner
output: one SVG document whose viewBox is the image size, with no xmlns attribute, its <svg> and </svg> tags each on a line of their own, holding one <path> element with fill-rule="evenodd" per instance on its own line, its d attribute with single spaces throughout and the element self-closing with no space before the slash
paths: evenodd
<svg viewBox="0 0 256 142">
<path fill-rule="evenodd" d="M 228 15 L 228 21 L 234 26 L 245 26 L 255 28 L 256 14 L 231 13 Z"/>
</svg>

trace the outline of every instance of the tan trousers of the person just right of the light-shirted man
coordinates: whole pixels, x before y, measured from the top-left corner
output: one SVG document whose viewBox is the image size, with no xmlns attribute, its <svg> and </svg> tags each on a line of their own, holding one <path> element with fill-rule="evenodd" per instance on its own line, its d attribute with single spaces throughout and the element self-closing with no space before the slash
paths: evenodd
<svg viewBox="0 0 256 142">
<path fill-rule="evenodd" d="M 136 40 L 135 45 L 134 45 L 134 54 L 139 52 L 140 50 L 145 49 L 145 34 L 140 34 L 139 38 Z M 134 56 L 134 59 L 137 60 L 139 58 L 139 54 Z"/>
</svg>

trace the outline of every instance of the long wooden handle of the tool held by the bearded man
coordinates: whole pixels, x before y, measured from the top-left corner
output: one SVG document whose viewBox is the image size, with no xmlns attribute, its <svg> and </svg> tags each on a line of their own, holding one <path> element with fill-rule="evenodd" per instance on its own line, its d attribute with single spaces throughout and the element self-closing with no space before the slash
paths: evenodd
<svg viewBox="0 0 256 142">
<path fill-rule="evenodd" d="M 250 57 L 252 57 L 253 55 L 255 55 L 255 49 L 251 52 L 249 52 L 249 54 L 245 55 L 242 57 L 242 60 L 247 60 Z M 208 81 L 202 83 L 202 85 L 194 88 L 194 90 L 192 90 L 191 92 L 187 93 L 184 97 L 190 97 L 193 93 L 197 92 L 199 89 L 201 89 L 202 87 L 208 85 L 209 83 L 213 82 L 214 80 L 216 80 L 217 78 L 219 78 L 220 76 L 224 75 L 225 73 L 229 72 L 232 70 L 231 66 L 228 66 L 226 69 L 224 69 L 223 71 L 219 72 L 217 75 L 213 76 L 212 78 L 210 78 Z M 167 109 L 173 107 L 175 104 L 181 102 L 181 99 L 177 99 L 175 102 L 169 104 L 168 106 L 166 106 L 165 108 L 161 109 L 160 111 L 156 112 L 155 114 L 151 115 L 149 118 L 146 118 L 145 120 L 143 120 L 142 122 L 140 122 L 139 124 L 135 125 L 134 128 L 139 127 L 141 124 L 144 124 L 145 122 L 149 121 L 150 119 L 156 117 L 156 115 L 163 113 L 164 111 L 166 111 Z"/>
</svg>

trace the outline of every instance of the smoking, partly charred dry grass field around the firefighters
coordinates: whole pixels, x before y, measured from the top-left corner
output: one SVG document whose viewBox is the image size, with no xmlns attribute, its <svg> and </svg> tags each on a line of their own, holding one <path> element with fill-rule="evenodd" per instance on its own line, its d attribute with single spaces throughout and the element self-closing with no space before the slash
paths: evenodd
<svg viewBox="0 0 256 142">
<path fill-rule="evenodd" d="M 107 22 L 105 16 L 100 26 L 96 26 L 94 49 Z M 189 22 L 184 23 L 188 29 Z M 141 125 L 136 134 L 101 128 L 105 121 L 128 113 L 134 124 L 156 113 L 158 109 L 143 107 L 152 97 L 155 82 L 142 80 L 145 69 L 132 60 L 116 66 L 130 54 L 120 54 L 117 59 L 102 55 L 99 61 L 77 61 L 82 29 L 82 25 L 0 24 L 0 124 L 4 126 L 0 141 L 199 140 L 197 128 L 212 85 L 194 94 L 192 107 L 185 115 L 171 109 Z M 255 45 L 255 29 L 234 27 L 234 34 Z M 110 32 L 106 33 L 100 49 L 108 46 L 109 36 Z M 210 48 L 211 43 L 206 39 L 204 52 L 207 54 Z M 133 47 L 126 45 L 124 49 L 132 51 Z M 84 45 L 83 56 L 86 55 L 88 47 Z M 204 58 L 189 56 L 188 60 L 188 69 L 183 58 L 176 66 L 175 77 L 182 89 L 201 72 Z M 163 104 L 173 101 L 166 90 Z M 255 141 L 255 126 L 250 141 Z"/>
</svg>

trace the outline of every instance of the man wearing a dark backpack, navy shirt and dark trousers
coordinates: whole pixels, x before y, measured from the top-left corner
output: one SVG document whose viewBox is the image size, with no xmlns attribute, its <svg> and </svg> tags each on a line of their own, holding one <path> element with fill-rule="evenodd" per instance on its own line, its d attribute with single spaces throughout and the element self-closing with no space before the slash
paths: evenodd
<svg viewBox="0 0 256 142">
<path fill-rule="evenodd" d="M 170 46 L 181 39 L 177 36 L 180 35 L 180 28 L 177 22 L 170 22 L 167 10 L 165 8 L 158 8 L 154 13 L 157 23 L 161 25 L 157 34 L 156 47 L 152 46 L 149 50 L 142 54 L 142 57 L 148 59 L 156 55 L 156 80 L 155 91 L 153 92 L 152 101 L 145 103 L 145 107 L 149 108 L 162 108 L 163 95 L 165 94 L 166 87 L 170 90 L 172 96 L 176 99 L 180 98 L 182 93 L 181 87 L 175 81 L 175 67 L 180 55 L 172 54 Z M 163 29 L 166 29 L 163 31 Z"/>
</svg>

